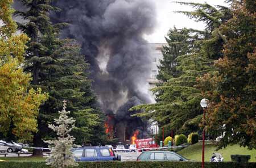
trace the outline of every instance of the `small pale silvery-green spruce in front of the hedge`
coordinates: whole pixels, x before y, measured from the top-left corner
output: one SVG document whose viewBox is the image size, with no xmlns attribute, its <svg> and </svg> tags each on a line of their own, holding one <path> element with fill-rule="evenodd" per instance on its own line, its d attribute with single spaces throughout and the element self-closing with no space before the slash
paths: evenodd
<svg viewBox="0 0 256 168">
<path fill-rule="evenodd" d="M 46 141 L 51 147 L 51 155 L 46 159 L 47 165 L 56 168 L 65 168 L 76 166 L 75 158 L 71 152 L 71 148 L 75 138 L 69 133 L 75 128 L 75 120 L 68 117 L 70 111 L 66 111 L 67 101 L 63 100 L 63 110 L 59 111 L 59 119 L 55 119 L 57 125 L 49 124 L 57 134 L 57 140 Z"/>
</svg>

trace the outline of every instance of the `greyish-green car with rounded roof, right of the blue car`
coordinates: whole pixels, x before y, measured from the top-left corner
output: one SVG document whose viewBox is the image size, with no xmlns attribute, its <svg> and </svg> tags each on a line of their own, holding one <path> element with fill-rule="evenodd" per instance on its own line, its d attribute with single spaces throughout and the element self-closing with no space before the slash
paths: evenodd
<svg viewBox="0 0 256 168">
<path fill-rule="evenodd" d="M 143 152 L 137 161 L 189 161 L 175 152 L 165 150 L 149 150 Z"/>
</svg>

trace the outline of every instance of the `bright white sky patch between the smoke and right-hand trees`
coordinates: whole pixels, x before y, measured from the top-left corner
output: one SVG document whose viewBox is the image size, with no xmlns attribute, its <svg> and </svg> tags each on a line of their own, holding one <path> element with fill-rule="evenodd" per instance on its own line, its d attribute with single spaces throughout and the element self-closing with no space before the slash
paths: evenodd
<svg viewBox="0 0 256 168">
<path fill-rule="evenodd" d="M 179 1 L 179 0 L 176 0 Z M 222 5 L 227 6 L 224 3 L 225 0 L 182 0 L 182 2 L 198 2 L 204 3 L 207 2 L 210 5 Z M 189 19 L 184 14 L 175 14 L 174 11 L 189 11 L 192 10 L 192 7 L 185 5 L 179 5 L 173 3 L 173 0 L 154 0 L 156 5 L 157 20 L 158 24 L 156 25 L 154 33 L 151 35 L 145 35 L 145 39 L 150 43 L 166 43 L 164 36 L 167 35 L 168 30 L 172 27 L 176 28 L 195 28 L 199 30 L 204 29 L 204 23 L 194 22 Z"/>
</svg>

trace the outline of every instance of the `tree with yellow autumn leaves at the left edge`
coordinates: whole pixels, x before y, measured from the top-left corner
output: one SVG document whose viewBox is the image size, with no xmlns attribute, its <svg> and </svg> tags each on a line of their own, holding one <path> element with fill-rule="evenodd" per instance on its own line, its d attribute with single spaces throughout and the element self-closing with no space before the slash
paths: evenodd
<svg viewBox="0 0 256 168">
<path fill-rule="evenodd" d="M 3 138 L 31 141 L 32 133 L 38 131 L 39 106 L 47 95 L 40 89 L 29 89 L 31 76 L 22 67 L 28 37 L 15 35 L 11 3 L 0 2 L 0 132 Z"/>
</svg>

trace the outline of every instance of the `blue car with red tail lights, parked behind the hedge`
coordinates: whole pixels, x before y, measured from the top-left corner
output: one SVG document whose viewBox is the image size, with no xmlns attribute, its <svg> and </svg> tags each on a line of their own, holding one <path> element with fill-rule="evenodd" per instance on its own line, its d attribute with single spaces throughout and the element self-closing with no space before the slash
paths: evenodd
<svg viewBox="0 0 256 168">
<path fill-rule="evenodd" d="M 84 146 L 72 150 L 76 161 L 121 161 L 108 146 Z"/>
</svg>

